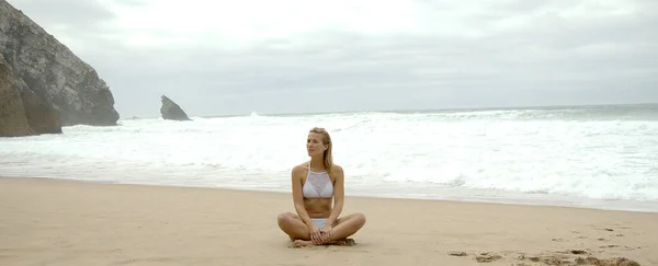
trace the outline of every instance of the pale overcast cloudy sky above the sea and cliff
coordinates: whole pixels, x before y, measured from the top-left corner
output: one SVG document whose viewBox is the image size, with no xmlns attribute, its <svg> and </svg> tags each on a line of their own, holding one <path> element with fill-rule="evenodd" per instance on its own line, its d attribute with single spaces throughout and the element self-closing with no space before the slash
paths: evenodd
<svg viewBox="0 0 658 266">
<path fill-rule="evenodd" d="M 658 102 L 656 0 L 9 0 L 122 117 Z"/>
</svg>

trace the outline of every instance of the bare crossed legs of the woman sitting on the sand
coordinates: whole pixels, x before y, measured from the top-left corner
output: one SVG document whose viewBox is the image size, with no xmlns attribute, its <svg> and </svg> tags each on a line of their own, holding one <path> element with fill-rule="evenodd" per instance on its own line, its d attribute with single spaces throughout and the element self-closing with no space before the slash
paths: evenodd
<svg viewBox="0 0 658 266">
<path fill-rule="evenodd" d="M 292 241 L 299 241 L 302 244 L 310 243 L 310 233 L 308 225 L 302 221 L 299 216 L 286 211 L 279 215 L 279 228 L 286 233 Z M 356 233 L 365 224 L 365 216 L 363 213 L 352 213 L 336 220 L 332 224 L 331 236 L 329 242 L 345 240 L 348 236 Z"/>
</svg>

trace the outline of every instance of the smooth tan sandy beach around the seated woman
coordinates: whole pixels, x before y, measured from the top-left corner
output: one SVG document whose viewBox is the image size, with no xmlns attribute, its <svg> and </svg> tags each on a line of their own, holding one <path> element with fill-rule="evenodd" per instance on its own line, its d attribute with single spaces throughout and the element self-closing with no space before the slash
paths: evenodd
<svg viewBox="0 0 658 266">
<path fill-rule="evenodd" d="M 288 194 L 2 177 L 0 265 L 658 265 L 658 213 L 345 204 L 367 218 L 356 245 L 295 248 L 276 225 Z"/>
</svg>

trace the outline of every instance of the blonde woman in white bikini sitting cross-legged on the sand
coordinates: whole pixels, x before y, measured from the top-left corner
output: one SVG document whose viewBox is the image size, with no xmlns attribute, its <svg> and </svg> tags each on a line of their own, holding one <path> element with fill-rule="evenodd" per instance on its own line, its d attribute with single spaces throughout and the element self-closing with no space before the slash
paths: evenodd
<svg viewBox="0 0 658 266">
<path fill-rule="evenodd" d="M 344 203 L 344 173 L 333 164 L 331 137 L 313 128 L 306 139 L 310 160 L 292 170 L 293 204 L 297 215 L 279 216 L 279 227 L 299 245 L 331 244 L 348 240 L 365 224 L 363 213 L 338 218 Z M 331 201 L 334 201 L 333 207 Z"/>
</svg>

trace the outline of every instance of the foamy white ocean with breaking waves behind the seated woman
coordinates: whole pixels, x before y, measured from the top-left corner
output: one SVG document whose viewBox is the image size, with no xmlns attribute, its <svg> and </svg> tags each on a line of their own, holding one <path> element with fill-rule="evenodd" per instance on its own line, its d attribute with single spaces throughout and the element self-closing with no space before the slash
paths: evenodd
<svg viewBox="0 0 658 266">
<path fill-rule="evenodd" d="M 658 211 L 658 104 L 120 119 L 0 139 L 0 176 L 290 192 L 325 127 L 348 196 Z"/>
</svg>

